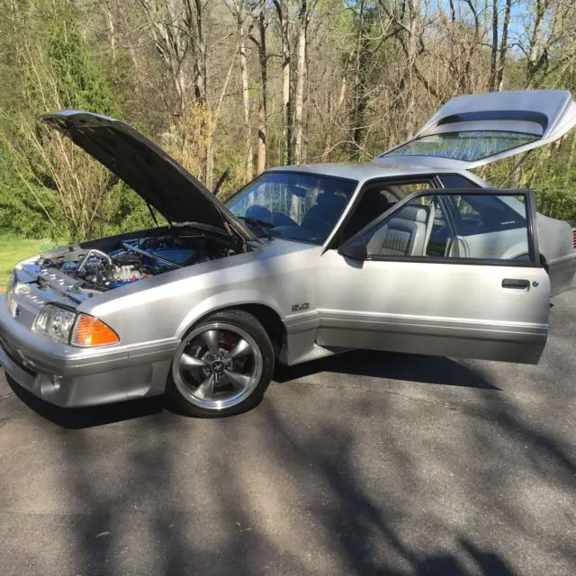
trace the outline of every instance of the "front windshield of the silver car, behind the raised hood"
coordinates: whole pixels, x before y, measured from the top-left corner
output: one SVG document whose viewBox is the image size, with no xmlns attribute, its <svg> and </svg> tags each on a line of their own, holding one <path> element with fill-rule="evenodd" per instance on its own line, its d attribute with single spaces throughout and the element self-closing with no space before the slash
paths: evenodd
<svg viewBox="0 0 576 576">
<path fill-rule="evenodd" d="M 325 175 L 269 172 L 247 184 L 226 204 L 258 236 L 322 244 L 356 184 Z"/>
</svg>

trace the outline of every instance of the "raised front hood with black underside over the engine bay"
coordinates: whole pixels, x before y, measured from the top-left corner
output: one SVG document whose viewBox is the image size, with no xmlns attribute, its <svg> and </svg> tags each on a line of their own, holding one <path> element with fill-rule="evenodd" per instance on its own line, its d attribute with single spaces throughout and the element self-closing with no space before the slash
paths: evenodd
<svg viewBox="0 0 576 576">
<path fill-rule="evenodd" d="M 138 130 L 107 116 L 63 110 L 39 116 L 121 178 L 168 222 L 193 222 L 256 237 L 202 182 Z"/>
</svg>

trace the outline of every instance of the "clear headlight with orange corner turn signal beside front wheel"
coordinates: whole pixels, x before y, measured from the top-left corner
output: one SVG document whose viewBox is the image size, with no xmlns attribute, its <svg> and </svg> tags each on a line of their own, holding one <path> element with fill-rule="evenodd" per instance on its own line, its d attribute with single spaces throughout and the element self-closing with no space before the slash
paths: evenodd
<svg viewBox="0 0 576 576">
<path fill-rule="evenodd" d="M 78 347 L 117 344 L 120 338 L 102 320 L 77 314 L 55 304 L 46 304 L 34 320 L 34 331 L 48 338 Z"/>
</svg>

